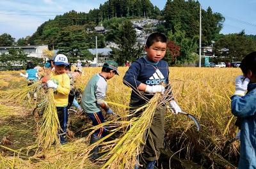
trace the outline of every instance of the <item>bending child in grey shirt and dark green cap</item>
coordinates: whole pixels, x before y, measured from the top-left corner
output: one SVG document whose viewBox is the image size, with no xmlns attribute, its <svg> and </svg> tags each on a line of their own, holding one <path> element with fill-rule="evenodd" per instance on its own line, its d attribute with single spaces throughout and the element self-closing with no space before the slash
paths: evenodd
<svg viewBox="0 0 256 169">
<path fill-rule="evenodd" d="M 104 99 L 108 88 L 107 80 L 113 78 L 114 75 L 118 75 L 117 67 L 118 64 L 115 61 L 106 61 L 102 66 L 101 73 L 93 75 L 84 89 L 81 105 L 86 115 L 92 120 L 93 126 L 105 122 L 100 108 L 102 108 L 106 114 L 115 114 Z M 105 134 L 106 129 L 104 127 L 98 129 L 91 136 L 90 144 L 97 142 Z M 92 150 L 92 159 L 99 158 L 97 152 L 99 152 L 99 147 L 95 147 L 95 149 Z"/>
</svg>

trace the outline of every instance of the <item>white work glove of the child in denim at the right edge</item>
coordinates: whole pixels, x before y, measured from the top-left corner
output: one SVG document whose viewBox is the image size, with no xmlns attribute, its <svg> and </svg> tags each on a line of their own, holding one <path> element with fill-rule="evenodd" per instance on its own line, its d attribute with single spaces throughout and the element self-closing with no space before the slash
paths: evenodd
<svg viewBox="0 0 256 169">
<path fill-rule="evenodd" d="M 234 93 L 234 95 L 238 95 L 238 96 L 244 96 L 245 92 L 247 91 L 247 85 L 250 82 L 249 78 L 245 78 L 244 80 L 244 76 L 240 75 L 238 77 L 236 77 L 236 91 Z"/>
</svg>

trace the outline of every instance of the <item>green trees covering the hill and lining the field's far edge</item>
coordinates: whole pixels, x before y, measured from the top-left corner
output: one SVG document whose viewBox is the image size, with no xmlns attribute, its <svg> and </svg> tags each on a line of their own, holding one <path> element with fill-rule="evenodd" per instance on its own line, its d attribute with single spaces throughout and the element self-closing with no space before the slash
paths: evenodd
<svg viewBox="0 0 256 169">
<path fill-rule="evenodd" d="M 2 34 L 0 45 L 44 43 L 49 49 L 58 49 L 68 55 L 74 62 L 76 59 L 92 59 L 88 48 L 95 48 L 97 36 L 99 48 L 105 47 L 108 41 L 118 45 L 118 48 L 112 48 L 111 58 L 122 65 L 124 61 L 134 61 L 143 54 L 143 47 L 135 45 L 136 31 L 131 20 L 156 18 L 159 24 L 154 31 L 166 34 L 170 40 L 164 59 L 171 65 L 189 64 L 198 61 L 199 9 L 200 3 L 193 0 L 167 0 L 162 11 L 149 0 L 109 0 L 88 13 L 72 10 L 57 15 L 39 26 L 31 36 L 17 41 L 10 34 Z M 220 34 L 224 21 L 223 15 L 214 13 L 211 7 L 202 10 L 202 47 L 214 42 L 217 56 L 214 61 L 241 61 L 245 54 L 256 50 L 256 36 L 246 35 L 243 30 L 241 33 Z M 94 27 L 100 25 L 108 30 L 106 34 L 94 31 Z M 151 29 L 144 30 L 152 32 Z"/>
</svg>

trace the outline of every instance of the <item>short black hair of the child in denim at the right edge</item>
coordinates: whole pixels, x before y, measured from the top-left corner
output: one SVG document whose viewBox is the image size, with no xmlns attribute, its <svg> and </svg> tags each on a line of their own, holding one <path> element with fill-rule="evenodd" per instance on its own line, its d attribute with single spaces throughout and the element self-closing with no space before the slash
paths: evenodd
<svg viewBox="0 0 256 169">
<path fill-rule="evenodd" d="M 244 74 L 250 70 L 256 76 L 256 52 L 246 55 L 241 62 L 240 68 Z"/>
</svg>

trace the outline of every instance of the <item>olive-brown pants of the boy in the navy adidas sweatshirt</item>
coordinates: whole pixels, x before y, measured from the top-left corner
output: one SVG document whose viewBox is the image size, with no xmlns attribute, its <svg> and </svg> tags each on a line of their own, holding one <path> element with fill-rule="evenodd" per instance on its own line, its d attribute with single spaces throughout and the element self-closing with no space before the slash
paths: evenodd
<svg viewBox="0 0 256 169">
<path fill-rule="evenodd" d="M 130 107 L 138 108 L 140 107 L 140 99 L 131 99 Z M 134 109 L 131 109 L 134 110 Z M 154 117 L 152 119 L 152 124 L 148 131 L 145 132 L 144 140 L 146 144 L 143 147 L 143 152 L 141 154 L 141 162 L 148 163 L 149 161 L 155 161 L 159 159 L 161 149 L 164 145 L 164 114 L 166 112 L 165 107 L 157 107 Z M 135 116 L 140 115 L 142 112 L 138 112 Z M 148 132 L 148 135 L 147 135 Z"/>
</svg>

